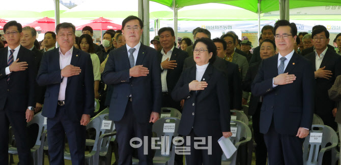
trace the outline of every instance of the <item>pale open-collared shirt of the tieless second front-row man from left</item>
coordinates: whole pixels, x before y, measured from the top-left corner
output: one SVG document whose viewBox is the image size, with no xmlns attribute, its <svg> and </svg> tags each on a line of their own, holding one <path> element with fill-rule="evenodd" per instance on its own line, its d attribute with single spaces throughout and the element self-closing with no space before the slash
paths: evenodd
<svg viewBox="0 0 341 165">
<path fill-rule="evenodd" d="M 63 54 L 61 51 L 61 48 L 59 48 L 59 65 L 61 67 L 61 70 L 71 63 L 72 51 L 73 51 L 73 46 L 65 54 Z M 59 95 L 58 95 L 59 101 L 65 100 L 65 90 L 66 90 L 66 84 L 68 82 L 67 77 L 62 77 L 62 78 L 63 78 L 63 81 L 61 83 L 61 87 L 59 88 Z"/>
</svg>

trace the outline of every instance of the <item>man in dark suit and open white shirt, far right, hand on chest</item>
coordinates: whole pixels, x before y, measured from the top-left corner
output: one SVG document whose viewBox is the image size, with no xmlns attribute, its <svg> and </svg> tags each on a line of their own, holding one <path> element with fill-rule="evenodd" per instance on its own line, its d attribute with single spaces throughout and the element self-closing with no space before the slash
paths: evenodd
<svg viewBox="0 0 341 165">
<path fill-rule="evenodd" d="M 310 60 L 315 68 L 316 95 L 315 113 L 318 114 L 325 125 L 337 129 L 334 122 L 337 111 L 336 104 L 328 97 L 328 90 L 334 84 L 338 75 L 341 74 L 341 56 L 330 50 L 329 32 L 324 28 L 316 28 L 312 31 L 312 40 L 315 45 L 315 52 L 305 57 Z"/>
</svg>

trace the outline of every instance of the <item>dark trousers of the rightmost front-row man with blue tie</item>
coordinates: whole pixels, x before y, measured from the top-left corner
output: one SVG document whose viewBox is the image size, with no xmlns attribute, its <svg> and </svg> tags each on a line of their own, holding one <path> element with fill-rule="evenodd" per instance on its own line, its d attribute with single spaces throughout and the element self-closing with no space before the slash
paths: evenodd
<svg viewBox="0 0 341 165">
<path fill-rule="evenodd" d="M 264 141 L 268 149 L 269 164 L 303 165 L 304 138 L 278 134 L 272 121 L 268 133 L 264 134 Z"/>
</svg>

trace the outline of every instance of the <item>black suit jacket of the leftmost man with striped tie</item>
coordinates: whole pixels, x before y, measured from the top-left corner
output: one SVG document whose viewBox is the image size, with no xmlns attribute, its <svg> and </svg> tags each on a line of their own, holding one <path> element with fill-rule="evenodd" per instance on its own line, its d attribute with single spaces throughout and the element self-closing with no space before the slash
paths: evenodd
<svg viewBox="0 0 341 165">
<path fill-rule="evenodd" d="M 27 106 L 36 107 L 34 96 L 37 68 L 35 67 L 34 55 L 29 49 L 20 46 L 17 56 L 18 62 L 25 61 L 29 65 L 25 71 L 12 72 L 8 83 L 8 75 L 5 71 L 8 67 L 7 53 L 8 47 L 0 49 L 0 110 L 4 110 L 5 105 L 7 105 L 8 110 L 25 112 Z"/>
</svg>

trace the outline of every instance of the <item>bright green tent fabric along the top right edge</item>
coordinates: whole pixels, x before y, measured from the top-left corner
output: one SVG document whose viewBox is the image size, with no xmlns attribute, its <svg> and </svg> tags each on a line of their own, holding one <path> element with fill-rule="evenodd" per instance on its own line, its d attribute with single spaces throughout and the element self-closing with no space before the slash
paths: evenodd
<svg viewBox="0 0 341 165">
<path fill-rule="evenodd" d="M 151 0 L 168 7 L 173 7 L 172 0 Z M 176 7 L 182 8 L 185 6 L 206 4 L 206 3 L 220 3 L 226 5 L 232 5 L 249 10 L 254 13 L 258 13 L 258 0 L 175 0 Z M 290 0 L 289 8 L 303 8 L 303 7 L 314 7 L 314 6 L 339 6 L 341 5 L 340 0 Z M 261 13 L 277 11 L 279 10 L 279 1 L 277 0 L 261 0 Z"/>
</svg>

